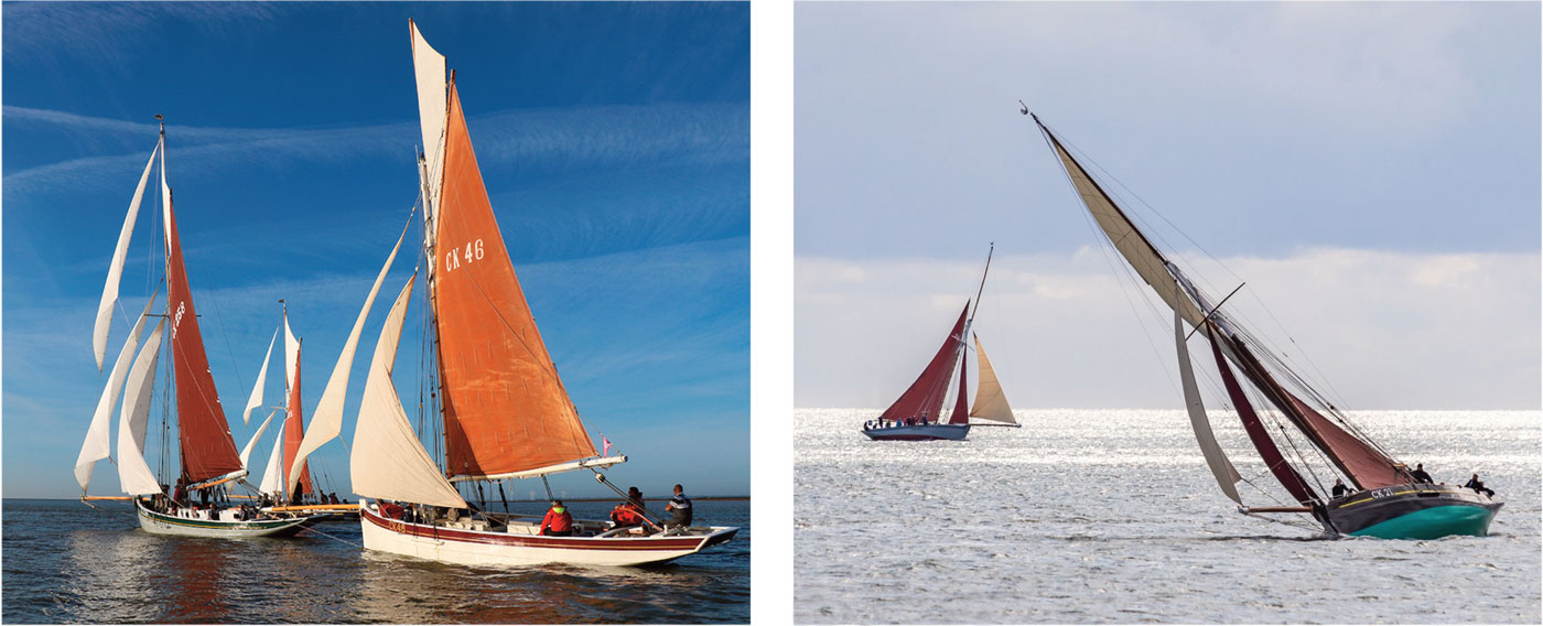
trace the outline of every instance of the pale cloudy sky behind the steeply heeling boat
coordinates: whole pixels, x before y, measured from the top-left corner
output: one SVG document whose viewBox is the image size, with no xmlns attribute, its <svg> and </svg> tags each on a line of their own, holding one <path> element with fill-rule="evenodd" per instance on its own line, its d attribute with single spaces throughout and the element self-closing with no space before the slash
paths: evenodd
<svg viewBox="0 0 1543 626">
<path fill-rule="evenodd" d="M 1182 406 L 1171 318 L 1023 99 L 1211 293 L 1247 282 L 1228 307 L 1342 406 L 1537 409 L 1537 25 L 1535 3 L 798 5 L 796 406 L 892 402 L 989 242 L 977 330 L 1015 407 Z"/>
</svg>

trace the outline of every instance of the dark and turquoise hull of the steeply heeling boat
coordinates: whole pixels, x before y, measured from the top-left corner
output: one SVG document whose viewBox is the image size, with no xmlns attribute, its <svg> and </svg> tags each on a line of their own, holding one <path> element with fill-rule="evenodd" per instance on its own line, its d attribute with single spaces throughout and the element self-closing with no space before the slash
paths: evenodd
<svg viewBox="0 0 1543 626">
<path fill-rule="evenodd" d="M 1384 540 L 1435 540 L 1489 535 L 1504 503 L 1449 484 L 1400 484 L 1329 501 L 1333 530 Z"/>
</svg>

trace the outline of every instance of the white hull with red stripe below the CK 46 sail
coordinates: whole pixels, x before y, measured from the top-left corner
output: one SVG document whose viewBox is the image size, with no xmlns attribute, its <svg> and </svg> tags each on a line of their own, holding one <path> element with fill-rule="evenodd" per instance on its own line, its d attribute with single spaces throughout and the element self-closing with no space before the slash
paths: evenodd
<svg viewBox="0 0 1543 626">
<path fill-rule="evenodd" d="M 677 537 L 540 537 L 409 524 L 383 518 L 373 506 L 360 506 L 364 549 L 466 566 L 640 566 L 667 563 L 728 541 L 736 527 L 713 526 Z M 520 527 L 523 530 L 523 526 Z"/>
</svg>

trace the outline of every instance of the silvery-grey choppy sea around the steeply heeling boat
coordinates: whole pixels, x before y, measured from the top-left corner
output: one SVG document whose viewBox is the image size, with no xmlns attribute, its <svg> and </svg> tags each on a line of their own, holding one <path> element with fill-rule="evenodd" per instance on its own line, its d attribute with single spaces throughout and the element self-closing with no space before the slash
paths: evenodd
<svg viewBox="0 0 1543 626">
<path fill-rule="evenodd" d="M 1182 410 L 1018 410 L 966 441 L 869 441 L 880 410 L 795 412 L 799 623 L 1540 623 L 1538 412 L 1353 412 L 1443 483 L 1506 500 L 1489 537 L 1321 538 L 1245 517 Z M 1211 422 L 1244 503 L 1285 500 Z M 1307 521 L 1301 515 L 1276 515 Z"/>
</svg>

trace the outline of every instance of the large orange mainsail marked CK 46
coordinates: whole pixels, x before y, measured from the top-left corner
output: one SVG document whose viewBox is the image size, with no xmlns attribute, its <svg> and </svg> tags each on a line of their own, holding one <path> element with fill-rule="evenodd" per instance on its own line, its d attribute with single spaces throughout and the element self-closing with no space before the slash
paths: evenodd
<svg viewBox="0 0 1543 626">
<path fill-rule="evenodd" d="M 449 103 L 434 237 L 446 473 L 488 478 L 596 456 L 514 276 L 454 79 Z"/>
</svg>

